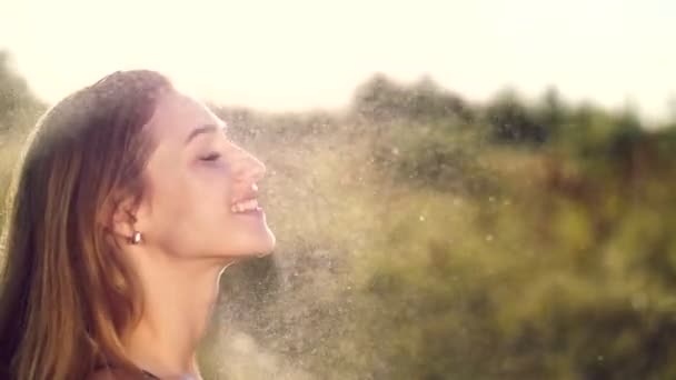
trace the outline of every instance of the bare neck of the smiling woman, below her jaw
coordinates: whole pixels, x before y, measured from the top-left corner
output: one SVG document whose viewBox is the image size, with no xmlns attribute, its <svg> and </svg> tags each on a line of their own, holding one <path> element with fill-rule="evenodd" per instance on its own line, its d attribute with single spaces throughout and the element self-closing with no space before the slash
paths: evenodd
<svg viewBox="0 0 676 380">
<path fill-rule="evenodd" d="M 196 352 L 226 266 L 165 254 L 137 254 L 135 261 L 145 304 L 139 323 L 125 339 L 130 359 L 162 379 L 201 379 Z"/>
</svg>

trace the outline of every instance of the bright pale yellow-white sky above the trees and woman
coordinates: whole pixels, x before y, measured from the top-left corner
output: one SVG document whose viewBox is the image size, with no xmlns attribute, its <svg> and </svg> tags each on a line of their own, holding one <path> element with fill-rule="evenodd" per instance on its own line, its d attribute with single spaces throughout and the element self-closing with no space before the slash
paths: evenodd
<svg viewBox="0 0 676 380">
<path fill-rule="evenodd" d="M 554 84 L 648 116 L 676 104 L 674 0 L 0 1 L 0 47 L 48 101 L 150 68 L 271 110 L 346 106 L 376 71 L 478 100 Z"/>
</svg>

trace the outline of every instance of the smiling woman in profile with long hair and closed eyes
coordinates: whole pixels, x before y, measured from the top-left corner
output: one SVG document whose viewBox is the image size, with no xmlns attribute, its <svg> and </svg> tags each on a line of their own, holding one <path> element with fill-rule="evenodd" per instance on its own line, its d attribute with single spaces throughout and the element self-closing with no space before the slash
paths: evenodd
<svg viewBox="0 0 676 380">
<path fill-rule="evenodd" d="M 270 252 L 265 166 L 152 71 L 112 73 L 38 122 L 1 240 L 0 378 L 201 379 L 230 263 Z"/>
</svg>

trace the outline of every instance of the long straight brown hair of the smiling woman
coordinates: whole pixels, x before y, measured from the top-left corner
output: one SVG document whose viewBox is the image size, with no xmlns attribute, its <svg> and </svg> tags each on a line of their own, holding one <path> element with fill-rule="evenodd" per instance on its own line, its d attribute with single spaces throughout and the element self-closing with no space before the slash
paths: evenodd
<svg viewBox="0 0 676 380">
<path fill-rule="evenodd" d="M 29 136 L 0 238 L 0 378 L 138 370 L 122 341 L 142 299 L 107 218 L 122 194 L 142 194 L 153 148 L 142 127 L 170 89 L 157 72 L 118 71 L 61 100 Z"/>
</svg>

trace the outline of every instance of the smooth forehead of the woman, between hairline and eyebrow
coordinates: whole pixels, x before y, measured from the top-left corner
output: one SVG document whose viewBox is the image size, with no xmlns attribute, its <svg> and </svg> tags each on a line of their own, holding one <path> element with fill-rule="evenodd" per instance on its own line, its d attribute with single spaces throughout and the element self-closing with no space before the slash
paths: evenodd
<svg viewBox="0 0 676 380">
<path fill-rule="evenodd" d="M 158 99 L 147 128 L 151 134 L 161 139 L 185 139 L 195 128 L 205 124 L 223 122 L 199 100 L 178 91 L 169 91 Z"/>
</svg>

